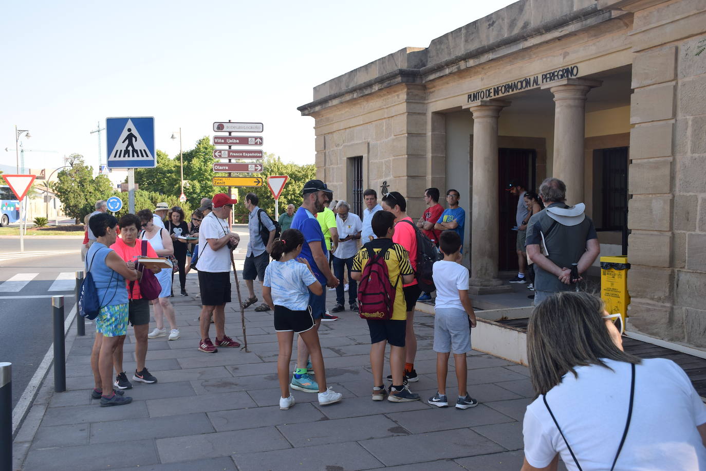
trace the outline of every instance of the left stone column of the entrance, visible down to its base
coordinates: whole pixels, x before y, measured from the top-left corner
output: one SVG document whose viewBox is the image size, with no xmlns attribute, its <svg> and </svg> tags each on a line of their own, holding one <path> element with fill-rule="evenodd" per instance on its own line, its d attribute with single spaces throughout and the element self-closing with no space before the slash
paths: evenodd
<svg viewBox="0 0 706 471">
<path fill-rule="evenodd" d="M 473 114 L 471 294 L 511 291 L 498 279 L 498 117 L 510 102 L 486 100 Z"/>
</svg>

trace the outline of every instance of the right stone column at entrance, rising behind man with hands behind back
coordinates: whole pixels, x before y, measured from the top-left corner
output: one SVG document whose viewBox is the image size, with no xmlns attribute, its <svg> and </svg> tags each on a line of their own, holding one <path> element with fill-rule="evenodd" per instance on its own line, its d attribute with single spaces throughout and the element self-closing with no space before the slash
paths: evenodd
<svg viewBox="0 0 706 471">
<path fill-rule="evenodd" d="M 584 130 L 586 94 L 600 81 L 566 78 L 552 82 L 554 94 L 554 168 L 551 176 L 566 184 L 566 203 L 575 205 L 584 201 Z"/>
</svg>

